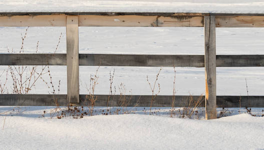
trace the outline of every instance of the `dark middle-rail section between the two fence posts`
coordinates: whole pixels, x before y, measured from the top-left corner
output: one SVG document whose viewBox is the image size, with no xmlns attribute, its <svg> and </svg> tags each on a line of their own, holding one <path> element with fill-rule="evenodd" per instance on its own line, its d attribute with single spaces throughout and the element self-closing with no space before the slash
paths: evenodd
<svg viewBox="0 0 264 150">
<path fill-rule="evenodd" d="M 203 55 L 81 54 L 80 65 L 203 67 Z"/>
</svg>

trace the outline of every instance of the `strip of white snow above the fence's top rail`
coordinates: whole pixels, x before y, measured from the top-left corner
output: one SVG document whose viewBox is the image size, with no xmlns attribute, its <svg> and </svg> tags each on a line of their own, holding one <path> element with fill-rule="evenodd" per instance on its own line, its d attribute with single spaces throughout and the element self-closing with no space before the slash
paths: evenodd
<svg viewBox="0 0 264 150">
<path fill-rule="evenodd" d="M 1 0 L 0 12 L 264 13 L 263 0 Z"/>
</svg>

